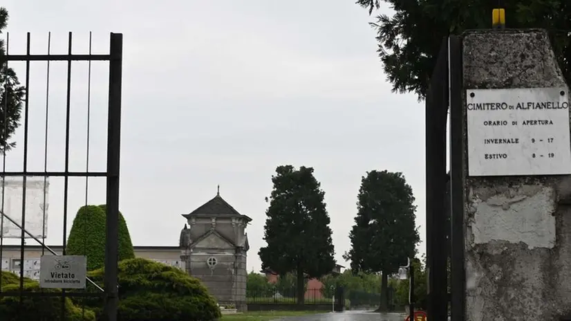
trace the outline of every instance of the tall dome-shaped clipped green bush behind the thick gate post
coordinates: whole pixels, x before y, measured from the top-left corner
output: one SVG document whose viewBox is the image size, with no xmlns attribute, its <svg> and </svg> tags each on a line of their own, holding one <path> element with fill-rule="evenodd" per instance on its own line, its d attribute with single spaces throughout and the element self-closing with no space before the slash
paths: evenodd
<svg viewBox="0 0 571 321">
<path fill-rule="evenodd" d="M 77 211 L 69 232 L 66 254 L 86 255 L 87 270 L 102 268 L 105 264 L 105 205 L 82 206 Z M 127 223 L 119 213 L 119 260 L 135 257 Z"/>
</svg>

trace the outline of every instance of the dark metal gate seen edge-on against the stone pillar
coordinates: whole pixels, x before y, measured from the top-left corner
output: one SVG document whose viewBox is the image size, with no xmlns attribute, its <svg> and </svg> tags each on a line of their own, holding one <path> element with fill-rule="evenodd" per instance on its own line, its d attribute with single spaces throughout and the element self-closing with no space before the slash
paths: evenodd
<svg viewBox="0 0 571 321">
<path fill-rule="evenodd" d="M 461 39 L 451 35 L 442 40 L 426 97 L 427 310 L 431 320 L 447 320 L 449 306 L 451 320 L 464 320 L 461 89 Z M 449 172 L 446 166 L 448 125 Z M 442 250 L 442 244 L 447 244 L 446 251 Z M 448 266 L 451 266 L 450 284 Z"/>
</svg>

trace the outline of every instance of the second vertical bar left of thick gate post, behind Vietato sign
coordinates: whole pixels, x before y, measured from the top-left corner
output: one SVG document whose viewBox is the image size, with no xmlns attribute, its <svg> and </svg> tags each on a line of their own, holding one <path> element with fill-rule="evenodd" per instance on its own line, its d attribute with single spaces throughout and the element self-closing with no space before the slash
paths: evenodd
<svg viewBox="0 0 571 321">
<path fill-rule="evenodd" d="M 72 33 L 68 35 L 68 55 L 71 56 Z M 66 156 L 64 164 L 64 233 L 62 241 L 62 255 L 66 255 L 67 246 L 67 226 L 68 226 L 68 194 L 69 194 L 69 122 L 71 111 L 71 59 L 68 59 L 67 68 L 67 85 L 66 85 Z M 66 316 L 66 289 L 62 288 L 62 320 Z"/>
</svg>

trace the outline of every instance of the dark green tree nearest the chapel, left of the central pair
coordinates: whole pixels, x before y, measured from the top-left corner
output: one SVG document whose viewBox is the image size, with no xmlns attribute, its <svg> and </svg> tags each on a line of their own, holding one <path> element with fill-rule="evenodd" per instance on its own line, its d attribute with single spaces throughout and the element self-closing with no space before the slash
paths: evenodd
<svg viewBox="0 0 571 321">
<path fill-rule="evenodd" d="M 303 304 L 306 278 L 319 278 L 335 268 L 325 192 L 312 167 L 279 166 L 272 183 L 263 237 L 268 245 L 258 254 L 262 268 L 278 275 L 296 273 L 297 300 Z"/>
</svg>

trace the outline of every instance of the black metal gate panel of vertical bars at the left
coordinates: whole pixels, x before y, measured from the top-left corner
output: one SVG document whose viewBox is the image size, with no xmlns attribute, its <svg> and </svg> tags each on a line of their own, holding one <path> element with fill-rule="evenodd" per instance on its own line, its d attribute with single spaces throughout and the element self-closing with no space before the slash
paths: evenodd
<svg viewBox="0 0 571 321">
<path fill-rule="evenodd" d="M 120 165 L 120 134 L 121 134 L 121 84 L 122 84 L 122 34 L 111 33 L 109 54 L 93 54 L 91 52 L 92 37 L 89 35 L 89 52 L 79 55 L 72 53 L 73 35 L 68 34 L 67 54 L 53 54 L 50 52 L 51 35 L 48 34 L 47 53 L 42 55 L 32 55 L 30 53 L 31 36 L 28 33 L 26 38 L 26 54 L 10 55 L 10 35 L 6 34 L 6 54 L 0 55 L 1 75 L 3 88 L 1 90 L 0 110 L 3 115 L 0 116 L 0 138 L 5 142 L 0 144 L 3 151 L 3 167 L 0 172 L 1 178 L 1 219 L 0 219 L 0 270 L 9 270 L 15 272 L 19 277 L 19 286 L 17 291 L 7 291 L 6 286 L 2 282 L 8 282 L 7 278 L 0 279 L 0 298 L 17 297 L 20 310 L 20 319 L 24 320 L 26 312 L 24 310 L 25 300 L 35 300 L 36 306 L 41 307 L 42 304 L 53 304 L 54 300 L 61 300 L 58 315 L 45 315 L 46 320 L 65 320 L 66 318 L 66 298 L 73 298 L 76 304 L 87 304 L 97 302 L 97 306 L 101 306 L 104 320 L 114 321 L 117 318 L 118 305 L 118 288 L 117 288 L 117 259 L 118 259 L 118 212 L 119 212 L 119 165 Z M 12 70 L 10 66 L 24 62 L 25 75 L 24 86 L 13 87 L 10 83 Z M 33 84 L 30 85 L 31 62 L 37 66 L 37 62 L 45 62 L 46 80 L 44 85 L 45 104 L 43 107 L 30 103 L 30 96 L 37 93 Z M 66 82 L 65 82 L 65 112 L 64 116 L 59 119 L 48 119 L 50 115 L 50 65 L 53 62 L 66 62 Z M 77 89 L 88 91 L 88 100 L 85 104 L 72 103 L 72 93 L 78 86 L 72 86 L 72 67 L 73 62 L 88 63 L 88 80 L 87 88 Z M 107 143 L 106 143 L 106 170 L 90 171 L 90 115 L 91 109 L 91 62 L 109 62 L 109 96 L 107 106 Z M 20 74 L 21 77 L 21 74 Z M 57 84 L 60 85 L 61 84 Z M 15 90 L 15 88 L 17 90 Z M 40 93 L 42 94 L 42 93 Z M 21 166 L 18 170 L 8 170 L 6 166 L 6 156 L 10 153 L 9 149 L 14 147 L 8 145 L 10 133 L 15 130 L 15 125 L 10 122 L 8 109 L 12 108 L 15 100 L 19 100 L 23 106 L 21 111 L 21 127 L 24 130 L 23 138 L 18 142 L 23 149 L 23 158 Z M 9 103 L 10 102 L 10 103 Z M 75 152 L 70 144 L 70 127 L 72 122 L 71 113 L 79 107 L 87 109 L 86 119 L 86 167 L 84 170 L 72 171 L 70 169 L 70 154 Z M 13 113 L 14 110 L 10 110 Z M 44 170 L 30 170 L 28 160 L 30 160 L 29 140 L 30 140 L 30 117 L 36 114 L 45 115 L 44 128 Z M 12 128 L 14 127 L 14 128 Z M 48 146 L 50 140 L 48 137 L 48 127 L 64 127 L 64 166 L 62 169 L 53 171 L 48 170 Z M 53 151 L 50 151 L 53 152 Z M 84 290 L 66 290 L 48 291 L 41 288 L 40 291 L 30 291 L 27 285 L 26 277 L 37 279 L 37 268 L 39 257 L 26 256 L 26 242 L 33 242 L 41 245 L 41 255 L 66 255 L 66 242 L 68 230 L 68 202 L 70 194 L 70 179 L 85 179 L 85 205 L 87 205 L 87 194 L 89 186 L 89 178 L 101 177 L 106 178 L 106 247 L 105 247 L 105 280 L 104 286 L 88 282 L 88 286 Z M 51 178 L 51 180 L 50 180 Z M 62 251 L 57 253 L 45 244 L 48 230 L 46 229 L 46 221 L 48 219 L 48 185 L 55 178 L 63 179 L 63 201 L 62 201 Z M 51 217 L 54 219 L 54 217 Z M 19 241 L 19 259 L 5 259 L 3 254 L 8 251 L 8 245 L 5 239 L 16 238 Z M 13 244 L 11 246 L 14 246 Z M 4 253 L 3 253 L 4 252 Z M 14 265 L 14 266 L 12 266 Z M 6 268 L 8 267 L 8 268 Z M 90 280 L 88 280 L 90 281 Z M 6 285 L 6 284 L 5 284 Z M 10 287 L 8 287 L 10 289 Z M 6 291 L 4 291 L 6 290 Z"/>
</svg>

